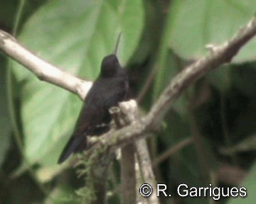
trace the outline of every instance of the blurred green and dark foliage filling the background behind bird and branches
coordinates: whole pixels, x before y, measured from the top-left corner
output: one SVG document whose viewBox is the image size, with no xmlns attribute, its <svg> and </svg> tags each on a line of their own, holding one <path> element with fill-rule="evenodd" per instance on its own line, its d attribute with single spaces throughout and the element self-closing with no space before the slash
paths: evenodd
<svg viewBox="0 0 256 204">
<path fill-rule="evenodd" d="M 27 0 L 18 24 L 18 40 L 66 72 L 95 80 L 102 57 L 113 52 L 122 32 L 118 56 L 129 73 L 132 94 L 141 96 L 146 113 L 178 72 L 207 55 L 207 44 L 225 42 L 252 18 L 255 2 Z M 14 29 L 18 3 L 0 2 L 0 28 L 9 33 Z M 198 79 L 174 103 L 161 131 L 149 139 L 154 162 L 183 140 L 193 138 L 194 142 L 155 168 L 159 183 L 170 187 L 173 203 L 213 203 L 210 198 L 179 198 L 176 187 L 180 183 L 247 188 L 246 198 L 221 198 L 219 203 L 253 203 L 256 199 L 252 193 L 256 186 L 255 51 L 256 40 L 252 40 L 232 64 Z M 14 93 L 8 93 L 10 63 L 4 55 L 0 62 L 0 203 L 77 203 L 75 192 L 83 182 L 76 178 L 75 169 L 58 166 L 56 161 L 82 102 L 68 91 L 39 81 L 13 61 Z M 14 106 L 7 103 L 7 94 Z M 16 113 L 22 149 L 11 140 L 16 137 L 11 137 L 14 128 L 8 110 Z M 225 172 L 229 181 L 220 176 L 224 164 L 233 166 L 233 174 Z M 117 162 L 114 165 L 112 174 L 117 176 L 120 168 Z M 247 173 L 244 182 L 237 183 L 235 169 Z M 118 185 L 119 179 L 110 178 L 111 203 L 119 203 Z M 171 202 L 169 198 L 161 201 Z"/>
</svg>

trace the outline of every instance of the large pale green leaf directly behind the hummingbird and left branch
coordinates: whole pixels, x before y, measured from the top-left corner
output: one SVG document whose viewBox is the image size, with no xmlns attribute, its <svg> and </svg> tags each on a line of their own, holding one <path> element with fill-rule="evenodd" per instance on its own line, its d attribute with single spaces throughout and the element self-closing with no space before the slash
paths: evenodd
<svg viewBox="0 0 256 204">
<path fill-rule="evenodd" d="M 48 1 L 23 26 L 23 45 L 61 69 L 95 79 L 105 55 L 114 51 L 122 32 L 118 56 L 125 64 L 142 32 L 142 1 Z M 18 64 L 21 117 L 28 161 L 53 166 L 73 129 L 81 101 L 51 84 L 41 82 Z M 58 148 L 57 148 L 58 147 Z M 53 166 L 54 167 L 54 166 Z"/>
</svg>

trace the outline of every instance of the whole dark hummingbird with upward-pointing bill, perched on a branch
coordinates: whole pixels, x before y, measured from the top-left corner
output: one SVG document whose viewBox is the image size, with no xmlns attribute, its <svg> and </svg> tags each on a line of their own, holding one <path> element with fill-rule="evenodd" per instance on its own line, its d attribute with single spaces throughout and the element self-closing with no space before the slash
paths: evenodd
<svg viewBox="0 0 256 204">
<path fill-rule="evenodd" d="M 82 152 L 87 147 L 87 135 L 102 135 L 110 130 L 111 115 L 109 109 L 119 102 L 127 100 L 129 82 L 127 74 L 117 59 L 117 47 L 113 55 L 104 57 L 100 75 L 92 84 L 85 97 L 73 135 L 63 149 L 58 164 L 65 162 L 70 154 Z"/>
</svg>

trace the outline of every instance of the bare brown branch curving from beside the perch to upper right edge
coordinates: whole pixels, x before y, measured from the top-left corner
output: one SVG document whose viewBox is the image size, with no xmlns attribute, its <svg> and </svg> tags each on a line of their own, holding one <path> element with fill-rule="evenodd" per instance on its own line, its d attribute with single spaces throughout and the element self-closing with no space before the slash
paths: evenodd
<svg viewBox="0 0 256 204">
<path fill-rule="evenodd" d="M 166 87 L 159 100 L 154 104 L 153 108 L 151 108 L 146 119 L 151 121 L 151 125 L 157 125 L 169 110 L 173 101 L 181 95 L 184 89 L 210 69 L 215 69 L 221 64 L 230 62 L 240 48 L 252 39 L 255 34 L 256 18 L 253 18 L 252 21 L 239 30 L 232 40 L 225 42 L 223 45 L 215 46 L 214 49 L 211 49 L 210 55 L 186 67 L 186 69 L 178 74 L 174 80 L 171 81 L 169 86 Z"/>
</svg>

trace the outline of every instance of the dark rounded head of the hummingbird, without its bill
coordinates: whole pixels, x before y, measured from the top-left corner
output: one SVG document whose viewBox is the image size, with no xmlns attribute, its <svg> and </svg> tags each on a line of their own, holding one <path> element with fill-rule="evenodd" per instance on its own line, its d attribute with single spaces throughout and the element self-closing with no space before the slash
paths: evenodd
<svg viewBox="0 0 256 204">
<path fill-rule="evenodd" d="M 102 60 L 100 74 L 102 77 L 113 77 L 121 68 L 117 55 L 108 55 Z"/>
</svg>

